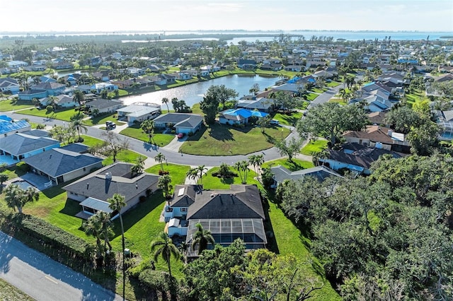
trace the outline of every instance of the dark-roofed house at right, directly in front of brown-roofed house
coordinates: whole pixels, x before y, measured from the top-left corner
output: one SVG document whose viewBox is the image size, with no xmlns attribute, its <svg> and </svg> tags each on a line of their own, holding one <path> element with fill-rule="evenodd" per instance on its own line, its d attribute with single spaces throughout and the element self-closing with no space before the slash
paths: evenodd
<svg viewBox="0 0 453 301">
<path fill-rule="evenodd" d="M 394 151 L 386 151 L 382 148 L 372 148 L 358 143 L 346 143 L 340 151 L 327 150 L 328 158 L 320 158 L 319 162 L 325 163 L 332 170 L 347 169 L 363 175 L 370 175 L 369 167 L 380 156 L 389 154 L 393 158 L 401 158 L 401 155 Z"/>
</svg>

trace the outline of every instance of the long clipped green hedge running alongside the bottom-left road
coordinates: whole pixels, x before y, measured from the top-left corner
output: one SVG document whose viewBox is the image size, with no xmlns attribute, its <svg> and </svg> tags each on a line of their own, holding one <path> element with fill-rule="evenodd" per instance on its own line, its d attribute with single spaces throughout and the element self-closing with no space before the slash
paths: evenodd
<svg viewBox="0 0 453 301">
<path fill-rule="evenodd" d="M 16 215 L 14 219 L 18 228 L 26 234 L 80 259 L 91 259 L 93 247 L 84 239 L 76 237 L 35 216 L 23 214 Z"/>
</svg>

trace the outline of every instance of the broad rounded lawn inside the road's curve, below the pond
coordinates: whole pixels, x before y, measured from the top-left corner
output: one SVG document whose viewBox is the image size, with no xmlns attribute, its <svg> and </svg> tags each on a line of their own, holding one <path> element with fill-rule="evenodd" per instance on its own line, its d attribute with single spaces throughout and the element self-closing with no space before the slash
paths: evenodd
<svg viewBox="0 0 453 301">
<path fill-rule="evenodd" d="M 285 138 L 289 129 L 274 126 L 261 133 L 259 127 L 234 128 L 212 124 L 183 143 L 180 150 L 193 155 L 246 155 L 273 147 L 275 139 Z"/>
</svg>

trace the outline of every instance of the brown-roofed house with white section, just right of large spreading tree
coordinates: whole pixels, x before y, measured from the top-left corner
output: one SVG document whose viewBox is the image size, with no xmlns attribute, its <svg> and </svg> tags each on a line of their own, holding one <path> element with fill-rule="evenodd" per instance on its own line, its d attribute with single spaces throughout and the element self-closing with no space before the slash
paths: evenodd
<svg viewBox="0 0 453 301">
<path fill-rule="evenodd" d="M 382 126 L 367 126 L 365 131 L 346 131 L 343 138 L 348 143 L 382 148 L 386 151 L 406 153 L 410 151 L 411 147 L 404 134 L 396 133 L 392 129 Z"/>
</svg>

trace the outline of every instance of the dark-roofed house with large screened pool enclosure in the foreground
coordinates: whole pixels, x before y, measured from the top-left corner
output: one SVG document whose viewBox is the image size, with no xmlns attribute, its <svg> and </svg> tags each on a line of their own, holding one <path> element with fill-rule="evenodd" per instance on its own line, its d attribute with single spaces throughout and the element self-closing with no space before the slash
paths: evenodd
<svg viewBox="0 0 453 301">
<path fill-rule="evenodd" d="M 190 246 L 197 223 L 210 230 L 216 244 L 228 246 L 237 238 L 246 249 L 267 244 L 265 214 L 255 185 L 231 185 L 230 189 L 204 191 L 199 185 L 176 185 L 173 199 L 165 206 L 168 235 L 186 236 Z M 210 246 L 213 247 L 213 246 Z M 191 253 L 191 256 L 196 256 Z"/>
</svg>

